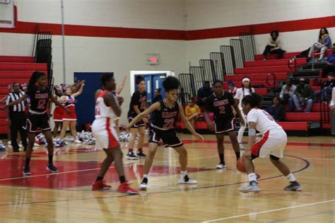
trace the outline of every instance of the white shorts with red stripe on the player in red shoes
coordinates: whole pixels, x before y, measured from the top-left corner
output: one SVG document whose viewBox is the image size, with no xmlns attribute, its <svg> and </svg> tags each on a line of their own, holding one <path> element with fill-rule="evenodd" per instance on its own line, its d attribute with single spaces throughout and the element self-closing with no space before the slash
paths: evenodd
<svg viewBox="0 0 335 223">
<path fill-rule="evenodd" d="M 109 149 L 119 145 L 119 137 L 114 127 L 114 120 L 110 118 L 95 119 L 92 126 L 95 145 L 98 149 Z"/>
</svg>

